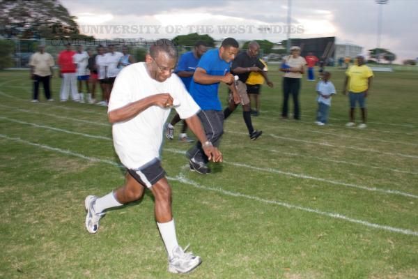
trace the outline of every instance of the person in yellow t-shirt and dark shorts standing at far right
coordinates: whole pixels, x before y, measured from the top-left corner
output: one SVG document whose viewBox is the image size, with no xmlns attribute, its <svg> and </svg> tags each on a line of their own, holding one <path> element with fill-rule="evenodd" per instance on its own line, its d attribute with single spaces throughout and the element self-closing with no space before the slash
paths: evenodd
<svg viewBox="0 0 418 279">
<path fill-rule="evenodd" d="M 366 97 L 369 93 L 373 72 L 371 68 L 364 64 L 364 56 L 357 56 L 357 65 L 351 66 L 346 71 L 346 80 L 343 86 L 343 94 L 346 95 L 348 85 L 348 97 L 350 99 L 350 122 L 346 124 L 347 127 L 355 126 L 354 110 L 358 102 L 360 110 L 362 110 L 362 123 L 358 128 L 366 128 Z"/>
</svg>

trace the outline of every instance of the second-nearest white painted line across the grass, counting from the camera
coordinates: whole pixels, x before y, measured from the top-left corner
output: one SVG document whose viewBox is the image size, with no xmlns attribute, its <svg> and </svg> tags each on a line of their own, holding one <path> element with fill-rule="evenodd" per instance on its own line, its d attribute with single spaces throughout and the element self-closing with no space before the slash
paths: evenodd
<svg viewBox="0 0 418 279">
<path fill-rule="evenodd" d="M 31 126 L 34 126 L 36 128 L 45 128 L 45 129 L 50 129 L 50 130 L 56 130 L 58 132 L 68 133 L 68 134 L 72 134 L 72 135 L 81 135 L 81 136 L 84 136 L 84 137 L 92 137 L 92 138 L 96 138 L 96 139 L 100 139 L 100 140 L 111 140 L 111 137 L 103 137 L 103 136 L 98 136 L 98 135 L 89 135 L 89 134 L 85 134 L 85 133 L 77 133 L 77 132 L 72 132 L 72 131 L 69 131 L 69 130 L 54 128 L 54 127 L 51 127 L 51 126 L 38 125 L 36 123 L 29 123 L 29 122 L 25 122 L 25 121 L 16 120 L 16 119 L 8 119 L 7 117 L 3 117 L 3 116 L 0 116 L 0 119 L 5 119 L 5 120 L 12 121 L 12 122 L 15 122 L 15 123 L 22 123 L 22 124 L 26 124 L 26 125 L 31 125 Z M 178 150 L 178 149 L 164 149 L 164 151 L 169 151 L 169 152 L 174 152 L 174 153 L 185 153 L 185 151 Z M 225 161 L 224 161 L 224 163 L 235 165 L 237 167 L 247 167 L 249 169 L 259 170 L 259 171 L 263 171 L 263 172 L 286 174 L 288 176 L 293 176 L 293 177 L 297 177 L 297 178 L 300 178 L 300 179 L 311 179 L 311 180 L 315 180 L 315 181 L 322 181 L 322 182 L 327 182 L 327 183 L 334 184 L 334 185 L 341 185 L 341 186 L 346 186 L 346 187 L 351 187 L 351 188 L 358 188 L 358 189 L 362 189 L 362 190 L 369 190 L 369 191 L 375 191 L 375 192 L 392 194 L 392 195 L 403 195 L 405 197 L 418 198 L 417 195 L 412 195 L 410 193 L 404 193 L 404 192 L 401 192 L 401 191 L 398 191 L 398 190 L 390 190 L 390 189 L 386 190 L 386 189 L 380 189 L 380 188 L 376 188 L 376 187 L 359 186 L 359 185 L 356 185 L 356 184 L 344 183 L 344 182 L 333 181 L 333 180 L 328 180 L 328 179 L 322 179 L 322 178 L 318 178 L 318 177 L 314 177 L 314 176 L 308 176 L 308 175 L 305 175 L 305 174 L 295 174 L 293 172 L 283 172 L 283 171 L 278 170 L 278 169 L 253 167 L 251 165 L 245 165 L 245 164 L 241 164 L 241 163 L 233 163 L 233 162 L 229 163 L 229 162 L 225 162 Z"/>
</svg>

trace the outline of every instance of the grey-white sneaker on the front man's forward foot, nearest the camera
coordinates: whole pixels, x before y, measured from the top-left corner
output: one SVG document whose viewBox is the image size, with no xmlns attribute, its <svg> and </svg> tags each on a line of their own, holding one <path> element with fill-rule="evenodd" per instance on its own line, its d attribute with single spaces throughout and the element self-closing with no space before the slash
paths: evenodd
<svg viewBox="0 0 418 279">
<path fill-rule="evenodd" d="M 173 257 L 169 259 L 169 272 L 187 273 L 201 264 L 201 257 L 193 255 L 192 252 L 186 252 L 187 248 L 189 246 L 184 250 L 180 246 L 173 249 Z"/>
</svg>

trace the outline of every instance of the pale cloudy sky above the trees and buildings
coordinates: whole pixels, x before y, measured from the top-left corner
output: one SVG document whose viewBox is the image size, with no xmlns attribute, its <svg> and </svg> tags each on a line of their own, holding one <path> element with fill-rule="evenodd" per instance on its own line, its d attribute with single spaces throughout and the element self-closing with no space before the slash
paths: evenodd
<svg viewBox="0 0 418 279">
<path fill-rule="evenodd" d="M 288 0 L 61 0 L 82 33 L 95 38 L 173 38 L 207 33 L 215 39 L 286 39 Z M 380 46 L 398 59 L 418 57 L 416 0 L 382 5 Z M 336 36 L 369 50 L 378 45 L 375 0 L 291 0 L 291 38 Z M 268 27 L 266 29 L 266 27 Z"/>
</svg>

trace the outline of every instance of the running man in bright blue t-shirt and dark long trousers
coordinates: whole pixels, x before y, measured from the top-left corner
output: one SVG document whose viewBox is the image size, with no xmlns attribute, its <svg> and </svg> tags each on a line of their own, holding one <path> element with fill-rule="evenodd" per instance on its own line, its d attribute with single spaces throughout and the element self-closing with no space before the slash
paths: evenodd
<svg viewBox="0 0 418 279">
<path fill-rule="evenodd" d="M 233 38 L 226 38 L 219 49 L 209 50 L 203 54 L 190 83 L 190 94 L 201 107 L 197 115 L 208 138 L 208 142 L 198 142 L 187 151 L 190 169 L 199 174 L 210 172 L 210 168 L 206 165 L 208 157 L 203 153 L 203 147 L 219 146 L 224 133 L 224 112 L 218 96 L 219 83 L 228 84 L 233 100 L 235 103 L 240 103 L 240 96 L 233 84 L 233 75 L 230 73 L 231 61 L 235 59 L 238 50 L 238 42 Z"/>
</svg>

